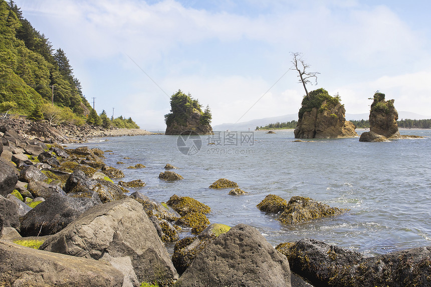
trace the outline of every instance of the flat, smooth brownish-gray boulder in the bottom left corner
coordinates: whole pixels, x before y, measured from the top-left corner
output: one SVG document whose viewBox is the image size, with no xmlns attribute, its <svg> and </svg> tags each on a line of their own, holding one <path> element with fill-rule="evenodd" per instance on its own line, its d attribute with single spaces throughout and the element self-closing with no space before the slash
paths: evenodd
<svg viewBox="0 0 431 287">
<path fill-rule="evenodd" d="M 108 262 L 20 246 L 0 240 L 0 282 L 4 286 L 115 286 L 123 274 Z"/>
</svg>

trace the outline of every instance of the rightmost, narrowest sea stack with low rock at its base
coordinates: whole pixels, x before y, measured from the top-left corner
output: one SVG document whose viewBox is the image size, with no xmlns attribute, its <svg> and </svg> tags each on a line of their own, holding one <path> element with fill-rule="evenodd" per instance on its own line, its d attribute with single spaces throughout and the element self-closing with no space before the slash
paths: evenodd
<svg viewBox="0 0 431 287">
<path fill-rule="evenodd" d="M 385 95 L 382 93 L 374 94 L 374 101 L 370 109 L 370 133 L 362 133 L 359 141 L 382 141 L 374 139 L 370 136 L 372 134 L 383 136 L 387 139 L 401 138 L 398 132 L 398 112 L 396 111 L 393 103 L 395 100 L 386 101 Z"/>
</svg>

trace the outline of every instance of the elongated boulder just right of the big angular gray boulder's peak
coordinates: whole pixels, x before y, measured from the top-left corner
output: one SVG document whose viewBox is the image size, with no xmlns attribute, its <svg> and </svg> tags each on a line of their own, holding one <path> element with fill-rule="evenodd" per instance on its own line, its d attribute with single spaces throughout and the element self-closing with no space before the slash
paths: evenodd
<svg viewBox="0 0 431 287">
<path fill-rule="evenodd" d="M 133 198 L 142 204 L 148 217 L 154 215 L 158 219 L 166 219 L 169 221 L 175 221 L 181 217 L 178 212 L 166 203 L 160 203 L 157 200 L 150 199 L 139 191 L 135 191 L 130 194 L 130 198 Z"/>
</svg>

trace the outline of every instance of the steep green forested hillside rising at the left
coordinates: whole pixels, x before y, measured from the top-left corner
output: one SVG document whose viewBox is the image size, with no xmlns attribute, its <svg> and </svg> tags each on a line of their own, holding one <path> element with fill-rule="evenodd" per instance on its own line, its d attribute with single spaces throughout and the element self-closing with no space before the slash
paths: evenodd
<svg viewBox="0 0 431 287">
<path fill-rule="evenodd" d="M 15 113 L 30 115 L 53 100 L 79 116 L 91 109 L 65 52 L 54 51 L 13 1 L 0 1 L 0 102 L 15 102 Z"/>
</svg>

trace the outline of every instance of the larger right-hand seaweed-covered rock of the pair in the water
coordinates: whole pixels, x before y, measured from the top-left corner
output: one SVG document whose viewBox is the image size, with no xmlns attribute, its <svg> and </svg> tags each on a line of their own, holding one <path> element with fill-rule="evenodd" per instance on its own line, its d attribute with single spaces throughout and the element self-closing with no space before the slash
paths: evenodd
<svg viewBox="0 0 431 287">
<path fill-rule="evenodd" d="M 292 196 L 278 220 L 284 224 L 298 224 L 320 217 L 343 214 L 347 210 L 330 207 L 309 197 Z"/>
</svg>

